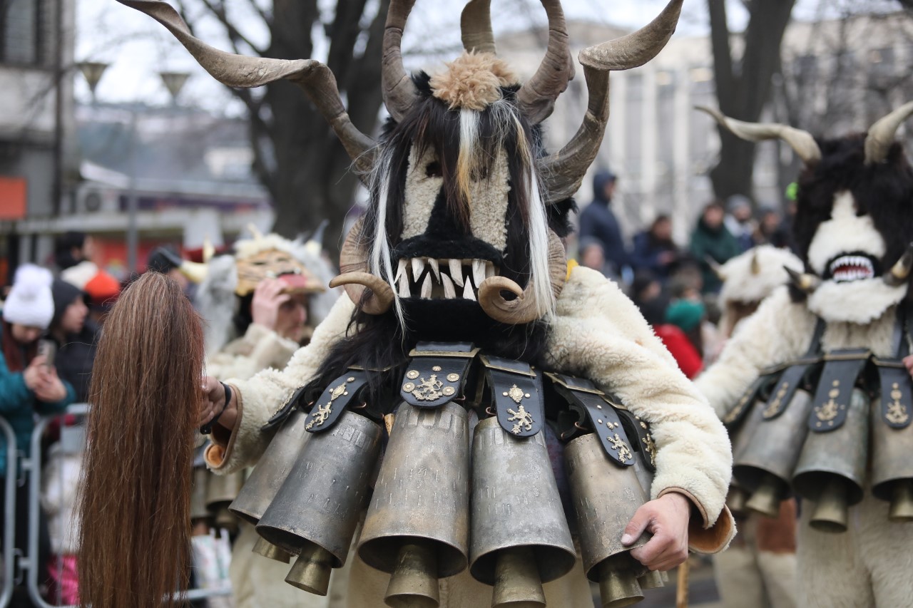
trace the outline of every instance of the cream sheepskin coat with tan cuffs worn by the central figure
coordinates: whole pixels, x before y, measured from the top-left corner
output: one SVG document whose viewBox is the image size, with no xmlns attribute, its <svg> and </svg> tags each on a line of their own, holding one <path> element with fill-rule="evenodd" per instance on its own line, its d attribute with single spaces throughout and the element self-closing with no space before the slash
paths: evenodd
<svg viewBox="0 0 913 608">
<path fill-rule="evenodd" d="M 230 472 L 257 460 L 270 439 L 260 428 L 316 372 L 332 343 L 344 335 L 352 308 L 352 301 L 341 297 L 283 372 L 267 370 L 247 381 L 229 381 L 239 395 L 239 422 L 231 435 L 215 434 L 216 443 L 206 452 L 209 466 Z M 670 491 L 685 494 L 700 514 L 689 529 L 691 549 L 725 548 L 735 531 L 724 507 L 731 469 L 726 430 L 634 303 L 600 273 L 573 268 L 557 302 L 547 351 L 546 366 L 590 378 L 652 425 L 657 448 L 652 498 Z M 353 558 L 352 580 L 359 584 L 350 588 L 349 605 L 383 606 L 388 575 Z M 472 581 L 468 572 L 442 581 L 441 590 L 441 606 L 491 605 L 491 588 Z M 546 585 L 545 592 L 554 605 L 593 605 L 579 561 L 569 574 Z"/>
</svg>

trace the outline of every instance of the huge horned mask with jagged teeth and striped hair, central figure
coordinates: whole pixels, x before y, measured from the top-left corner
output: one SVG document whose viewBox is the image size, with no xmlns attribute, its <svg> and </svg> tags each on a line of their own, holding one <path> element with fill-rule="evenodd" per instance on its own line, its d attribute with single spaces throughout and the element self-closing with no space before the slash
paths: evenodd
<svg viewBox="0 0 913 608">
<path fill-rule="evenodd" d="M 392 0 L 383 37 L 383 102 L 390 113 L 378 142 L 358 131 L 329 68 L 313 59 L 246 58 L 193 37 L 174 9 L 155 0 L 120 0 L 167 27 L 220 82 L 257 87 L 289 79 L 330 123 L 371 192 L 368 213 L 341 251 L 344 285 L 368 314 L 403 304 L 449 300 L 481 307 L 516 325 L 547 317 L 565 276 L 560 236 L 568 199 L 603 140 L 608 76 L 655 57 L 677 24 L 672 0 L 643 29 L 584 48 L 587 111 L 572 140 L 548 154 L 539 124 L 573 78 L 561 3 L 540 0 L 548 47 L 526 82 L 496 54 L 490 0 L 470 0 L 461 16 L 466 52 L 442 73 L 409 76 L 400 49 L 415 0 Z"/>
</svg>

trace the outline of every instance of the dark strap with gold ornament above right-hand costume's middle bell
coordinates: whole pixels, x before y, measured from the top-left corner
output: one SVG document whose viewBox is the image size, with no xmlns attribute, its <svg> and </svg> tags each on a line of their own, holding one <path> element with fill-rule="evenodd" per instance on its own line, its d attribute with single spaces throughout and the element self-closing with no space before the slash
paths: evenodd
<svg viewBox="0 0 913 608">
<path fill-rule="evenodd" d="M 810 430 L 826 433 L 844 424 L 850 395 L 870 354 L 866 349 L 847 349 L 824 355 L 824 369 L 814 393 L 812 414 L 808 418 Z"/>
</svg>

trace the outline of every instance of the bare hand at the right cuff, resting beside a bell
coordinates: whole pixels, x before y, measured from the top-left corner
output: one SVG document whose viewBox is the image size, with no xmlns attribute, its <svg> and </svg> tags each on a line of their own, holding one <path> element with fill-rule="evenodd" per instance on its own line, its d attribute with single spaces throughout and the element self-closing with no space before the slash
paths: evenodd
<svg viewBox="0 0 913 608">
<path fill-rule="evenodd" d="M 669 492 L 637 509 L 622 536 L 631 545 L 644 531 L 653 538 L 643 547 L 631 550 L 631 557 L 650 570 L 668 571 L 687 560 L 687 523 L 691 503 L 683 495 Z"/>
</svg>

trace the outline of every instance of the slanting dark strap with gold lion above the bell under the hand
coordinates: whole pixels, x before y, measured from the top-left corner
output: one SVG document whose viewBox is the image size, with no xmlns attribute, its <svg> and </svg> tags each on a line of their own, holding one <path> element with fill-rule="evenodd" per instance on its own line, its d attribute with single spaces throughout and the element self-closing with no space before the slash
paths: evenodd
<svg viewBox="0 0 913 608">
<path fill-rule="evenodd" d="M 593 432 L 603 444 L 609 459 L 620 466 L 634 465 L 631 442 L 624 432 L 621 419 L 614 407 L 589 380 L 575 378 L 563 373 L 548 373 L 555 391 L 564 397 L 572 407 L 585 412 Z"/>
</svg>

